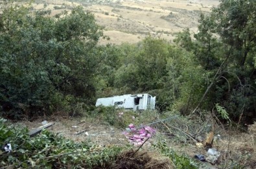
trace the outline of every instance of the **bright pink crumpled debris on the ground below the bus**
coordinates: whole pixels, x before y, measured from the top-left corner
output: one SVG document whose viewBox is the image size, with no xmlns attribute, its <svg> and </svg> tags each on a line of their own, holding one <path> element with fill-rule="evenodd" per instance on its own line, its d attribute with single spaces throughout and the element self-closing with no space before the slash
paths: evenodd
<svg viewBox="0 0 256 169">
<path fill-rule="evenodd" d="M 150 126 L 145 126 L 140 129 L 136 129 L 134 124 L 130 124 L 129 128 L 126 128 L 126 131 L 123 132 L 128 138 L 128 141 L 134 145 L 141 145 L 144 143 L 144 141 L 147 138 L 152 137 L 156 133 L 156 130 L 154 128 L 151 128 Z"/>
</svg>

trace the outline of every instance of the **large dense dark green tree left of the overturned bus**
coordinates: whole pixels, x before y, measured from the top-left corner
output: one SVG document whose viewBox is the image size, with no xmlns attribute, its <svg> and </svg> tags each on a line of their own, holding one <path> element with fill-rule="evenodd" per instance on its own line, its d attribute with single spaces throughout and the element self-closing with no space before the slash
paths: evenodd
<svg viewBox="0 0 256 169">
<path fill-rule="evenodd" d="M 93 14 L 78 6 L 54 19 L 24 9 L 14 3 L 1 14 L 2 110 L 38 113 L 60 102 L 89 102 L 95 95 L 93 48 L 102 36 Z"/>
</svg>

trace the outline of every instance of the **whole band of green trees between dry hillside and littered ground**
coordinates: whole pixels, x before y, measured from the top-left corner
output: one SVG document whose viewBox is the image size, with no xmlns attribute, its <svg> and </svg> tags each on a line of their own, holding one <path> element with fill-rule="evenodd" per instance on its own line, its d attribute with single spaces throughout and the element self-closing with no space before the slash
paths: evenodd
<svg viewBox="0 0 256 169">
<path fill-rule="evenodd" d="M 97 97 L 148 92 L 161 111 L 225 108 L 233 120 L 255 117 L 255 1 L 222 0 L 170 44 L 99 46 L 94 16 L 82 7 L 48 17 L 15 4 L 0 19 L 0 103 L 6 115 L 81 112 Z M 7 112 L 7 113 L 6 113 Z M 244 118 L 244 119 L 241 119 Z"/>
</svg>

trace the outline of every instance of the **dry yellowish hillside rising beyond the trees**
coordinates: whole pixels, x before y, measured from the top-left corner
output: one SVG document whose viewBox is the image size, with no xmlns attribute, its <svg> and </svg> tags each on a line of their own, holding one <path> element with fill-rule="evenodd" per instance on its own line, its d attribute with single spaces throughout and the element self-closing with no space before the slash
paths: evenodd
<svg viewBox="0 0 256 169">
<path fill-rule="evenodd" d="M 51 16 L 54 16 L 63 14 L 64 10 L 70 11 L 72 6 L 82 5 L 91 11 L 97 23 L 104 26 L 104 34 L 110 37 L 110 41 L 102 39 L 102 45 L 137 43 L 146 35 L 171 42 L 184 28 L 197 32 L 200 12 L 207 14 L 219 3 L 218 0 L 44 2 L 36 1 L 34 10 L 51 10 Z"/>
</svg>

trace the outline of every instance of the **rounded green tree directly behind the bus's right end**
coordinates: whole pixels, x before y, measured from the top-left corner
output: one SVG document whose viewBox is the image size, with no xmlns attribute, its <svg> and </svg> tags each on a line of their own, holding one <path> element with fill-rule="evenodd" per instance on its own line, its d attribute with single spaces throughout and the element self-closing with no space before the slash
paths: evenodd
<svg viewBox="0 0 256 169">
<path fill-rule="evenodd" d="M 166 72 L 169 45 L 164 39 L 146 37 L 141 46 L 141 52 L 135 57 L 138 68 L 138 88 L 142 91 L 161 88 L 158 83 Z"/>
</svg>

